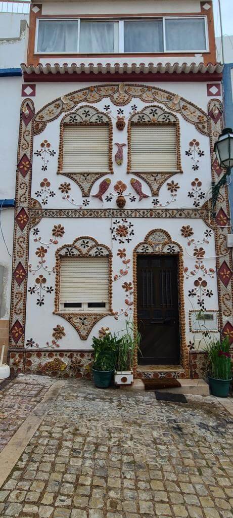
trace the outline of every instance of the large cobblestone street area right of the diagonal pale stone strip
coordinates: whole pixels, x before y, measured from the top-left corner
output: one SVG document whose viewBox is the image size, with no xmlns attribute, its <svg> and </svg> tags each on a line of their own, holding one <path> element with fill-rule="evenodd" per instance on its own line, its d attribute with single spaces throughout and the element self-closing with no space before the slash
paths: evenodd
<svg viewBox="0 0 233 518">
<path fill-rule="evenodd" d="M 212 397 L 187 400 L 64 380 L 0 490 L 0 515 L 232 518 L 233 419 Z"/>
</svg>

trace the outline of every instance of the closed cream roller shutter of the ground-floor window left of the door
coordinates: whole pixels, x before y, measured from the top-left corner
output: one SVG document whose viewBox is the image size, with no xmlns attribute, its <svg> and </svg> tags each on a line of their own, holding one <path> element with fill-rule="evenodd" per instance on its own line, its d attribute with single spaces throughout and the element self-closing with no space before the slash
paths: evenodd
<svg viewBox="0 0 233 518">
<path fill-rule="evenodd" d="M 61 258 L 60 303 L 108 303 L 108 296 L 108 257 Z"/>
</svg>

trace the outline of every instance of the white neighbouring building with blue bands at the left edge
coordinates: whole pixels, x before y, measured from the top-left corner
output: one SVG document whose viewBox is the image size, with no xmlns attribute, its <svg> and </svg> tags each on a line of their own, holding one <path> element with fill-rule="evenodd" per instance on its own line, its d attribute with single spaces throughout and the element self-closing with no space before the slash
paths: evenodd
<svg viewBox="0 0 233 518">
<path fill-rule="evenodd" d="M 0 346 L 3 343 L 8 346 L 9 340 L 13 204 L 22 90 L 20 64 L 26 59 L 29 6 L 28 2 L 0 2 Z"/>
</svg>

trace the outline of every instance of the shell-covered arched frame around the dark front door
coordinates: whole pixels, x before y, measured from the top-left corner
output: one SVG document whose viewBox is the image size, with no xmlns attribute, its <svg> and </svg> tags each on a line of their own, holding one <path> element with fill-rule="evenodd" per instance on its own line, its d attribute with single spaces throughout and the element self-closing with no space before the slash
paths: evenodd
<svg viewBox="0 0 233 518">
<path fill-rule="evenodd" d="M 170 234 L 162 228 L 154 228 L 137 244 L 133 251 L 133 283 L 134 283 L 134 329 L 138 328 L 137 312 L 137 256 L 138 255 L 176 255 L 178 275 L 178 310 L 180 324 L 180 361 L 185 371 L 185 377 L 190 377 L 190 362 L 185 338 L 185 309 L 184 309 L 184 263 L 183 249 L 179 243 L 172 241 Z M 134 354 L 134 375 L 137 376 L 138 352 Z"/>
</svg>

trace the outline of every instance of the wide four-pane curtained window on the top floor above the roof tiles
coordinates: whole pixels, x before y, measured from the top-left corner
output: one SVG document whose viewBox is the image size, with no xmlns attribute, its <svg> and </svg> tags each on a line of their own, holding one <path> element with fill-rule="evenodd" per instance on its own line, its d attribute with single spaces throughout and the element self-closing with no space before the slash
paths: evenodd
<svg viewBox="0 0 233 518">
<path fill-rule="evenodd" d="M 36 52 L 205 52 L 205 17 L 127 20 L 39 19 Z"/>
</svg>

